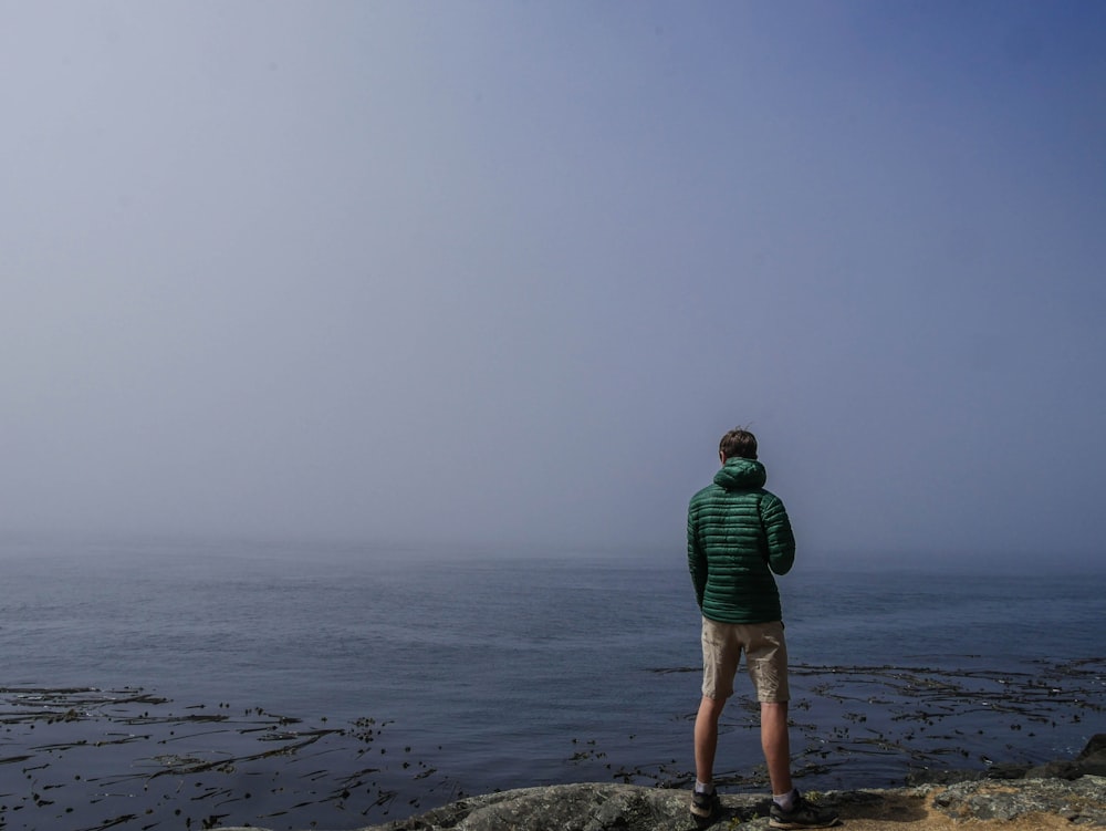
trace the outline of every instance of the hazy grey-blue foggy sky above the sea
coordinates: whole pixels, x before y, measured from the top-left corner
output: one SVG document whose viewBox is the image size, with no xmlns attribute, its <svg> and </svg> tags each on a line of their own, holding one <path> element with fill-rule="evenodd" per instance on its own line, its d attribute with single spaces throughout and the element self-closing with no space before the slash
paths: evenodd
<svg viewBox="0 0 1106 831">
<path fill-rule="evenodd" d="M 1106 4 L 0 1 L 0 530 L 1096 559 Z M 1001 559 L 1000 559 L 1001 561 Z"/>
</svg>

